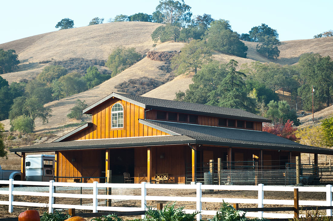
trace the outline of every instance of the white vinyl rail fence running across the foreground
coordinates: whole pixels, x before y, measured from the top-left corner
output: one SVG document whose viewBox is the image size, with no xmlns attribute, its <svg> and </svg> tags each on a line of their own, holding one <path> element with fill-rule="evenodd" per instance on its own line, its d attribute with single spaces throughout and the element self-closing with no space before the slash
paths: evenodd
<svg viewBox="0 0 333 221">
<path fill-rule="evenodd" d="M 9 184 L 9 190 L 1 190 L 0 194 L 7 194 L 8 201 L 0 201 L 0 204 L 8 205 L 8 211 L 13 212 L 13 206 L 33 206 L 33 207 L 48 207 L 49 212 L 53 212 L 54 208 L 75 208 L 92 210 L 92 212 L 100 211 L 143 211 L 146 210 L 147 200 L 159 201 L 183 201 L 183 202 L 196 202 L 196 209 L 185 209 L 186 213 L 200 211 L 197 215 L 197 220 L 201 219 L 201 215 L 215 215 L 215 210 L 202 210 L 202 202 L 227 202 L 227 203 L 254 203 L 258 208 L 263 208 L 264 204 L 270 205 L 294 205 L 294 200 L 281 200 L 281 199 L 264 199 L 264 191 L 294 191 L 298 188 L 299 192 L 326 192 L 326 199 L 323 200 L 299 200 L 300 206 L 332 206 L 332 185 L 326 186 L 264 186 L 263 184 L 255 185 L 202 185 L 201 183 L 193 185 L 184 184 L 100 184 L 94 183 L 59 183 L 59 182 L 29 182 L 29 181 L 0 181 L 0 184 Z M 49 186 L 49 192 L 27 192 L 27 191 L 14 191 L 15 185 L 34 185 L 34 186 Z M 55 193 L 55 186 L 68 186 L 68 187 L 90 187 L 93 189 L 93 194 L 73 194 L 73 193 Z M 141 195 L 102 195 L 98 194 L 98 188 L 140 188 Z M 147 195 L 147 189 L 195 189 L 196 196 L 151 196 Z M 202 190 L 254 190 L 258 191 L 258 198 L 243 199 L 243 198 L 218 198 L 218 197 L 202 197 Z M 14 195 L 28 195 L 28 196 L 46 196 L 49 197 L 49 203 L 34 203 L 34 202 L 19 202 L 14 201 Z M 55 204 L 54 197 L 69 197 L 69 198 L 88 198 L 92 199 L 92 205 L 68 205 L 68 204 Z M 141 207 L 114 207 L 114 206 L 99 206 L 98 199 L 118 199 L 118 200 L 141 200 Z M 332 216 L 332 209 L 327 209 L 328 216 Z M 293 218 L 294 214 L 283 213 L 265 213 L 265 212 L 247 212 L 247 217 L 265 217 L 265 218 Z"/>
</svg>

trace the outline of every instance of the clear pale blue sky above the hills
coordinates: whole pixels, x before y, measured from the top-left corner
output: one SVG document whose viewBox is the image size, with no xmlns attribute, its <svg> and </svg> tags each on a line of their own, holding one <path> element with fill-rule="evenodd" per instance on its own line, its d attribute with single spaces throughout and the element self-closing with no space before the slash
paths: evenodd
<svg viewBox="0 0 333 221">
<path fill-rule="evenodd" d="M 279 39 L 308 39 L 333 29 L 332 0 L 185 0 L 193 16 L 211 14 L 229 20 L 233 31 L 248 33 L 261 23 L 276 29 Z M 1 0 L 0 43 L 56 31 L 63 18 L 74 20 L 75 27 L 87 26 L 94 17 L 109 18 L 138 12 L 152 14 L 159 0 L 71 1 Z"/>
</svg>

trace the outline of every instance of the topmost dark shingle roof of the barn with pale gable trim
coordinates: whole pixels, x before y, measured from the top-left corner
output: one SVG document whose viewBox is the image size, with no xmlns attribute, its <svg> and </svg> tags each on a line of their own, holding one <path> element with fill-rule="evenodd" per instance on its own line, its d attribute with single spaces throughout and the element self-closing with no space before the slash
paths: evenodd
<svg viewBox="0 0 333 221">
<path fill-rule="evenodd" d="M 219 117 L 232 117 L 238 119 L 247 119 L 247 120 L 256 120 L 262 122 L 271 122 L 271 120 L 258 116 L 256 114 L 234 108 L 222 108 L 216 106 L 202 105 L 202 104 L 193 104 L 187 102 L 180 101 L 171 101 L 164 100 L 158 98 L 148 98 L 142 96 L 134 96 L 128 94 L 121 93 L 112 93 L 107 97 L 101 99 L 95 104 L 89 106 L 88 108 L 83 110 L 83 113 L 91 113 L 90 110 L 102 104 L 104 101 L 111 99 L 112 97 L 116 97 L 135 105 L 138 105 L 143 108 L 152 108 L 157 110 L 165 110 L 165 111 L 177 111 L 177 112 L 186 112 L 193 114 L 202 114 L 202 115 L 211 115 L 211 116 L 219 116 Z"/>
</svg>

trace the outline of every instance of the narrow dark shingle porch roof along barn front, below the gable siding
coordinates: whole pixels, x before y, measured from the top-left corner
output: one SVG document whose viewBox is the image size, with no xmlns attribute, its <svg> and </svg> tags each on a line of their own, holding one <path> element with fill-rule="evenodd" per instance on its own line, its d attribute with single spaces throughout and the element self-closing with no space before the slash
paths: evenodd
<svg viewBox="0 0 333 221">
<path fill-rule="evenodd" d="M 75 140 L 64 142 L 52 142 L 27 146 L 24 148 L 12 148 L 10 152 L 40 152 L 58 150 L 79 150 L 98 148 L 141 147 L 154 145 L 172 145 L 195 143 L 195 139 L 188 136 L 150 136 L 128 137 L 93 140 Z"/>
</svg>

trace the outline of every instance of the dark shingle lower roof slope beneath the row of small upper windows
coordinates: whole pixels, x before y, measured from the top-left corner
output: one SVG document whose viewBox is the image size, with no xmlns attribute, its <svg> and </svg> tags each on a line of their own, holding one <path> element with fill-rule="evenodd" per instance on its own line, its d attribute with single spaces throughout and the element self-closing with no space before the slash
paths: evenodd
<svg viewBox="0 0 333 221">
<path fill-rule="evenodd" d="M 216 144 L 222 146 L 254 147 L 289 151 L 303 151 L 333 155 L 333 150 L 306 146 L 274 134 L 245 129 L 214 127 L 197 124 L 175 123 L 157 120 L 143 120 L 140 123 L 157 128 L 170 130 L 197 140 L 201 144 Z"/>
</svg>

